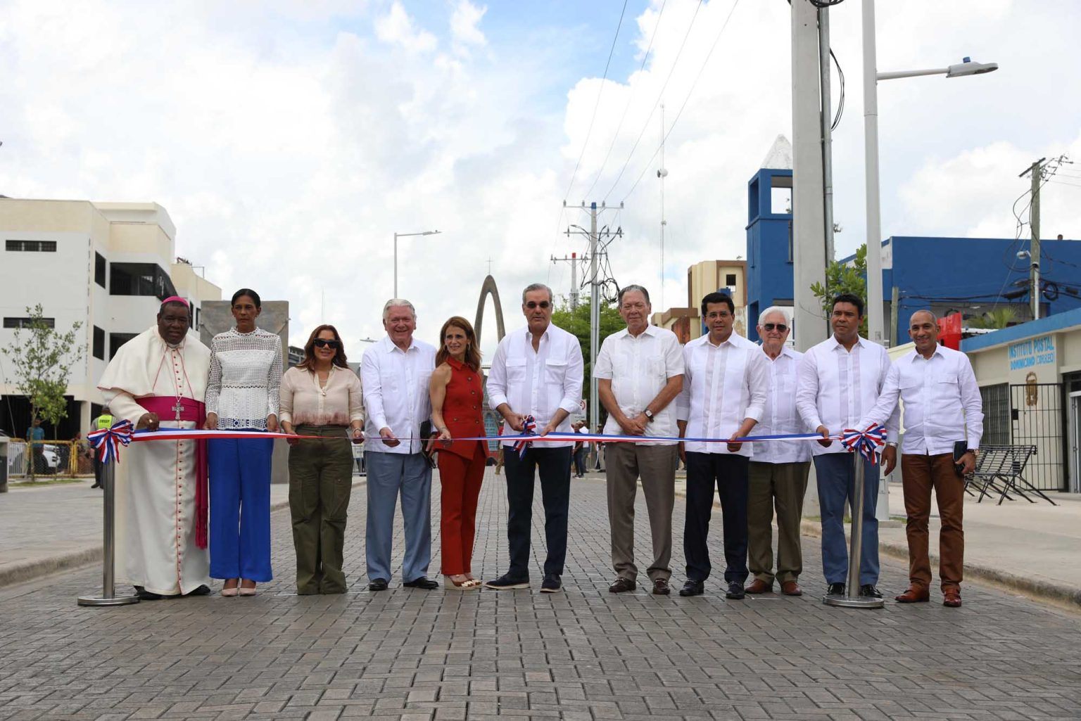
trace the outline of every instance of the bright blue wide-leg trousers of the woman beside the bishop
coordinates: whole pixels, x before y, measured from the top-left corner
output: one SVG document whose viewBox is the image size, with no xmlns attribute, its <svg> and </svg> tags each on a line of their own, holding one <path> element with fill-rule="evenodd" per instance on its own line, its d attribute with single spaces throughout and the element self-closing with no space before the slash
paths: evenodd
<svg viewBox="0 0 1081 721">
<path fill-rule="evenodd" d="M 270 571 L 270 455 L 273 439 L 206 441 L 210 575 L 266 583 Z"/>
</svg>

